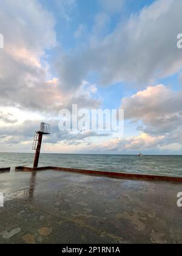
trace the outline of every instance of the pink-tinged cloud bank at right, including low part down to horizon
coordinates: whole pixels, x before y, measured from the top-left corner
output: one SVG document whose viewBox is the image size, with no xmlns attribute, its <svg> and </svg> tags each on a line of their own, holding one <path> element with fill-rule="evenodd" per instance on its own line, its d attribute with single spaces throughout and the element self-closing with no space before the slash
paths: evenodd
<svg viewBox="0 0 182 256">
<path fill-rule="evenodd" d="M 129 98 L 123 98 L 121 108 L 129 126 L 138 126 L 140 134 L 116 137 L 104 143 L 93 142 L 89 147 L 90 152 L 171 154 L 181 151 L 182 91 L 162 84 L 150 86 Z"/>
</svg>

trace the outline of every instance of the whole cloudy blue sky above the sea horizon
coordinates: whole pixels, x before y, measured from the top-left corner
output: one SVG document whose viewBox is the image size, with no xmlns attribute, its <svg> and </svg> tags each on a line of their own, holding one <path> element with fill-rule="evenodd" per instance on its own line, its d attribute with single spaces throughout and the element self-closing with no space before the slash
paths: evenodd
<svg viewBox="0 0 182 256">
<path fill-rule="evenodd" d="M 1 0 L 0 152 L 182 153 L 181 0 Z M 124 110 L 124 135 L 60 131 L 59 110 Z"/>
</svg>

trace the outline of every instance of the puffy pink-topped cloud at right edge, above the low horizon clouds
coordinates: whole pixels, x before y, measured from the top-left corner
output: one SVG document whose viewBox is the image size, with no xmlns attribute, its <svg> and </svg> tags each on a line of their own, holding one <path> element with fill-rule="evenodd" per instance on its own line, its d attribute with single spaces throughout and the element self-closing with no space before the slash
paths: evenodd
<svg viewBox="0 0 182 256">
<path fill-rule="evenodd" d="M 182 91 L 174 91 L 164 85 L 147 87 L 130 98 L 123 98 L 125 118 L 144 125 L 150 134 L 174 133 L 182 126 Z"/>
</svg>

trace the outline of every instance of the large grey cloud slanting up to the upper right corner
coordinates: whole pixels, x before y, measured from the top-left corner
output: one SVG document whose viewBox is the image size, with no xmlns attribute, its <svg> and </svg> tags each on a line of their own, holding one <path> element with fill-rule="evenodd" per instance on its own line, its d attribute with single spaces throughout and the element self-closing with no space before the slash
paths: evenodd
<svg viewBox="0 0 182 256">
<path fill-rule="evenodd" d="M 182 51 L 177 48 L 181 9 L 181 1 L 158 0 L 119 23 L 106 37 L 93 41 L 93 33 L 87 47 L 61 55 L 57 69 L 62 86 L 73 90 L 96 72 L 103 85 L 133 82 L 143 88 L 178 73 L 182 68 Z"/>
</svg>

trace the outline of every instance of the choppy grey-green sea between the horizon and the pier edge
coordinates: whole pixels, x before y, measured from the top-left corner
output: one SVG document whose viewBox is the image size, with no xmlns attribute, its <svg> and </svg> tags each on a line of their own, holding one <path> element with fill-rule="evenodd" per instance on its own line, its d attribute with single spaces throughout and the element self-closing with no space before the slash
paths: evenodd
<svg viewBox="0 0 182 256">
<path fill-rule="evenodd" d="M 0 168 L 32 166 L 34 154 L 0 153 Z M 182 156 L 41 154 L 39 166 L 182 177 Z"/>
</svg>

